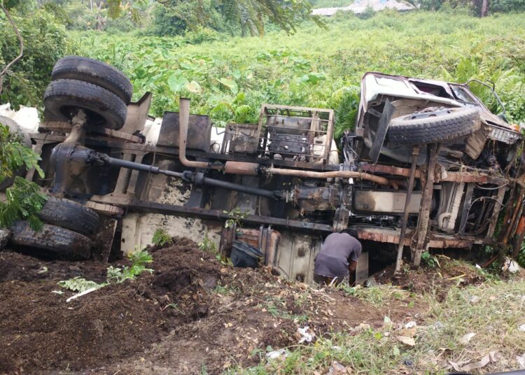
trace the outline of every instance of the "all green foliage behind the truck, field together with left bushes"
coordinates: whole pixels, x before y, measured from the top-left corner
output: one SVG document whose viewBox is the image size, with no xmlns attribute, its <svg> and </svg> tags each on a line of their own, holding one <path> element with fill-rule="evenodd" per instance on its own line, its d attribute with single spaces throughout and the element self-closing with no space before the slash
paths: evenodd
<svg viewBox="0 0 525 375">
<path fill-rule="evenodd" d="M 341 1 L 312 3 L 344 5 Z M 456 82 L 492 80 L 508 118 L 524 121 L 524 14 L 493 10 L 480 19 L 471 8 L 461 7 L 462 1 L 440 1 L 436 12 L 386 10 L 367 19 L 338 13 L 325 28 L 302 22 L 295 34 L 270 22 L 264 37 L 241 37 L 231 23 L 222 28 L 183 25 L 172 33 L 171 21 L 158 23 L 160 8 L 147 0 L 123 1 L 116 20 L 108 17 L 102 0 L 94 1 L 101 6 L 93 12 L 86 0 L 28 0 L 13 9 L 26 42 L 25 56 L 6 80 L 0 101 L 41 107 L 52 65 L 63 55 L 77 54 L 122 69 L 134 84 L 135 99 L 153 92 L 155 116 L 176 111 L 180 95 L 192 99 L 193 112 L 211 115 L 218 125 L 254 122 L 266 102 L 318 106 L 335 109 L 339 136 L 353 126 L 363 73 L 381 71 Z M 520 1 L 491 4 L 493 9 L 500 4 L 520 10 Z M 210 13 L 214 17 L 220 15 Z M 171 26 L 176 29 L 177 24 Z M 159 28 L 178 35 L 156 36 Z M 18 52 L 18 42 L 7 22 L 0 31 L 2 58 L 7 60 Z M 499 111 L 488 90 L 472 89 L 492 111 Z"/>
</svg>

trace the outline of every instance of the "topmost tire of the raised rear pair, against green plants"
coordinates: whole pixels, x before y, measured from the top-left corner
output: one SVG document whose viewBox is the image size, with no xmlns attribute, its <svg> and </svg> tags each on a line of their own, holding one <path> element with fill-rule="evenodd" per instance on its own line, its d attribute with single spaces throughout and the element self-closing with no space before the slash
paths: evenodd
<svg viewBox="0 0 525 375">
<path fill-rule="evenodd" d="M 133 85 L 123 72 L 99 62 L 80 56 L 66 56 L 59 59 L 53 67 L 51 80 L 82 80 L 113 92 L 125 104 L 130 104 Z"/>
</svg>

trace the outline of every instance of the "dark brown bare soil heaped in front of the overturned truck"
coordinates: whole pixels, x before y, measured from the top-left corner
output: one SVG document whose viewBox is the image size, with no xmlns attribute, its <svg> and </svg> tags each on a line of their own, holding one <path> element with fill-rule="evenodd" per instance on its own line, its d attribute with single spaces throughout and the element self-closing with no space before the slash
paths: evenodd
<svg viewBox="0 0 525 375">
<path fill-rule="evenodd" d="M 57 282 L 105 281 L 108 264 L 0 253 L 0 374 L 219 374 L 297 345 L 298 327 L 323 335 L 420 312 L 409 307 L 418 296 L 377 308 L 267 268 L 234 269 L 187 239 L 150 250 L 152 274 L 71 302 Z"/>
</svg>

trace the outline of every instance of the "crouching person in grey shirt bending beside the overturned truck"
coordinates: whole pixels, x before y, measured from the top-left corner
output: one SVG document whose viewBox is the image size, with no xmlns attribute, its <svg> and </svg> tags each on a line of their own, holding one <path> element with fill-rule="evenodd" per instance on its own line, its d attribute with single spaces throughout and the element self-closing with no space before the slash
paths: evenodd
<svg viewBox="0 0 525 375">
<path fill-rule="evenodd" d="M 329 234 L 314 260 L 314 281 L 337 285 L 349 274 L 349 285 L 353 285 L 360 254 L 361 243 L 355 230 Z"/>
</svg>

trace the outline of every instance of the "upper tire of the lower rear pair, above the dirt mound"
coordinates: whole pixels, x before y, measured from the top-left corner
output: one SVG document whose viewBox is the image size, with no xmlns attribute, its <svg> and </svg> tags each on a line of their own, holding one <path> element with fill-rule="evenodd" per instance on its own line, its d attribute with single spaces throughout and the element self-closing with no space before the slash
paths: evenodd
<svg viewBox="0 0 525 375">
<path fill-rule="evenodd" d="M 80 234 L 93 234 L 99 227 L 99 215 L 76 201 L 49 197 L 38 218 L 46 224 L 70 229 Z"/>
</svg>

